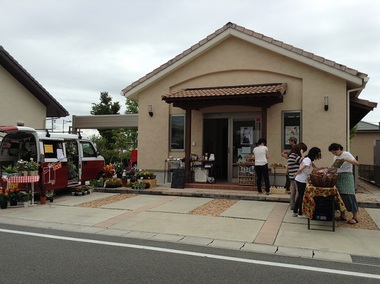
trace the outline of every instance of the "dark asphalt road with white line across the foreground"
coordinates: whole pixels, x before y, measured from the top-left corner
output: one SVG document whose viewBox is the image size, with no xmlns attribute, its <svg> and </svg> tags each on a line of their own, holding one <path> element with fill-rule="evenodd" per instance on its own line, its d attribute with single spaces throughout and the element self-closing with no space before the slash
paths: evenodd
<svg viewBox="0 0 380 284">
<path fill-rule="evenodd" d="M 379 283 L 378 266 L 0 226 L 1 283 Z"/>
</svg>

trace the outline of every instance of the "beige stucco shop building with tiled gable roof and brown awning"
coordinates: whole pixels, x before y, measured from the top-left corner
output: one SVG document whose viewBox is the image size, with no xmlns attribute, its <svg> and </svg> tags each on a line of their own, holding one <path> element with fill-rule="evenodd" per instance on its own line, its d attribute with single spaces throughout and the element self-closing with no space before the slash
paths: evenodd
<svg viewBox="0 0 380 284">
<path fill-rule="evenodd" d="M 376 107 L 358 98 L 367 81 L 357 70 L 227 23 L 123 93 L 139 102 L 139 168 L 160 176 L 168 157 L 184 157 L 189 175 L 191 154 L 213 153 L 217 180 L 235 182 L 236 162 L 261 137 L 269 165 L 286 164 L 281 151 L 290 136 L 322 149 L 317 164 L 330 165 L 328 146 L 347 149 L 350 128 Z"/>
</svg>

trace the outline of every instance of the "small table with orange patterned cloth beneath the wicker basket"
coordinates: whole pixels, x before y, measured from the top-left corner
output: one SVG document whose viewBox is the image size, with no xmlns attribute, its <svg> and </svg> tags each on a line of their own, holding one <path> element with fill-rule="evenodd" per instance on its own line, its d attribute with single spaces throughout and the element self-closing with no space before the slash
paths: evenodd
<svg viewBox="0 0 380 284">
<path fill-rule="evenodd" d="M 316 203 L 317 199 L 322 199 L 324 202 Z M 324 199 L 324 200 L 323 200 Z M 302 210 L 307 216 L 307 228 L 310 230 L 310 220 L 317 221 L 331 221 L 332 231 L 335 231 L 335 203 L 339 205 L 340 211 L 346 211 L 343 200 L 337 190 L 334 187 L 315 187 L 309 185 L 306 187 L 305 194 L 302 200 Z M 317 208 L 317 206 L 324 206 L 325 208 Z M 326 208 L 327 206 L 327 208 Z M 322 209 L 322 210 L 321 210 Z M 321 214 L 316 216 L 316 211 L 324 211 L 327 214 Z M 329 220 L 331 216 L 331 220 Z"/>
</svg>

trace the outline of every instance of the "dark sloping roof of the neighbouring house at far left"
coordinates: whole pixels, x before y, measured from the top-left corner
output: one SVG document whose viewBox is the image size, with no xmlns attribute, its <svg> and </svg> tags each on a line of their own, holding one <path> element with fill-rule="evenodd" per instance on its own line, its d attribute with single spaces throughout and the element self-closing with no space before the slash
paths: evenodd
<svg viewBox="0 0 380 284">
<path fill-rule="evenodd" d="M 66 117 L 69 112 L 0 45 L 0 65 L 46 106 L 46 117 Z"/>
</svg>

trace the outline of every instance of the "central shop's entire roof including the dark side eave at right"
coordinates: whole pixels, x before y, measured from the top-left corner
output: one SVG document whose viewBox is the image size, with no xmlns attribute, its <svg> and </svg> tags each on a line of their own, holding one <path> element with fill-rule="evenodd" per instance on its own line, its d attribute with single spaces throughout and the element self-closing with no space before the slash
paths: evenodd
<svg viewBox="0 0 380 284">
<path fill-rule="evenodd" d="M 189 60 L 199 56 L 205 50 L 213 47 L 224 39 L 235 36 L 252 44 L 261 46 L 273 52 L 287 56 L 303 64 L 320 69 L 324 72 L 333 74 L 347 82 L 347 90 L 350 91 L 350 125 L 355 126 L 369 111 L 377 106 L 377 103 L 359 99 L 360 92 L 364 89 L 369 80 L 367 74 L 349 68 L 345 65 L 336 63 L 332 60 L 304 51 L 282 41 L 275 40 L 263 34 L 238 26 L 234 23 L 227 23 L 222 28 L 216 30 L 205 39 L 169 60 L 165 64 L 156 68 L 152 72 L 141 77 L 137 81 L 125 87 L 122 92 L 129 98 L 136 98 L 138 93 L 147 88 L 163 76 L 175 71 L 177 68 L 186 64 Z"/>
</svg>

